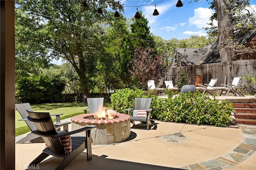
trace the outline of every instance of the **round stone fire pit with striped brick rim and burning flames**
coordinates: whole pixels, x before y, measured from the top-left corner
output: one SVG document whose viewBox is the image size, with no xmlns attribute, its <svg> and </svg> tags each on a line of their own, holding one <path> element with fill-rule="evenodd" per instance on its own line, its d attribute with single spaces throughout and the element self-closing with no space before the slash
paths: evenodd
<svg viewBox="0 0 256 170">
<path fill-rule="evenodd" d="M 122 113 L 115 113 L 108 110 L 107 113 L 88 113 L 76 115 L 71 118 L 72 130 L 82 128 L 86 125 L 96 125 L 91 130 L 91 137 L 94 144 L 112 144 L 123 142 L 131 134 L 130 116 Z M 81 132 L 80 135 L 85 135 Z"/>
</svg>

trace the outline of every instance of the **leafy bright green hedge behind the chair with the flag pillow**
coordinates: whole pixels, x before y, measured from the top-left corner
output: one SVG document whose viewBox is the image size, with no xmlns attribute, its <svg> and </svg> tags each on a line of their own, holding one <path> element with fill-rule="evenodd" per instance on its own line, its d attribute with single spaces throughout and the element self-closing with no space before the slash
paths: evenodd
<svg viewBox="0 0 256 170">
<path fill-rule="evenodd" d="M 230 121 L 231 112 L 234 111 L 232 103 L 218 101 L 202 95 L 199 91 L 195 93 L 179 93 L 174 96 L 172 91 L 166 90 L 168 98 L 159 98 L 151 92 L 144 95 L 141 89 L 121 89 L 111 95 L 112 108 L 124 113 L 124 109 L 134 107 L 135 97 L 151 97 L 150 108 L 151 119 L 164 122 L 188 123 L 197 125 L 214 125 L 226 127 Z"/>
</svg>

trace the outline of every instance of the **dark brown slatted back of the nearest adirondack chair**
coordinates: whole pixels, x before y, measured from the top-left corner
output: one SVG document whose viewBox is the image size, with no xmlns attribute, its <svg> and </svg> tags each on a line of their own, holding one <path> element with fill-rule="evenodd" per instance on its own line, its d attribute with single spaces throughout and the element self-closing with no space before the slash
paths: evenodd
<svg viewBox="0 0 256 170">
<path fill-rule="evenodd" d="M 49 112 L 28 111 L 28 120 L 33 122 L 42 134 L 58 134 Z M 60 138 L 43 137 L 49 149 L 55 154 L 65 154 Z"/>
</svg>

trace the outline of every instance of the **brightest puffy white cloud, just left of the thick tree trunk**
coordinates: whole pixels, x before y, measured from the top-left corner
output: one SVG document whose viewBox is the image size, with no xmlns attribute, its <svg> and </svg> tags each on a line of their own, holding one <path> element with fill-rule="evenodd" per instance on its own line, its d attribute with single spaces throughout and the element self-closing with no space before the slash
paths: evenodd
<svg viewBox="0 0 256 170">
<path fill-rule="evenodd" d="M 188 22 L 190 25 L 195 25 L 197 28 L 208 27 L 207 23 L 210 23 L 210 17 L 214 13 L 213 10 L 209 8 L 197 8 L 194 9 L 194 16 L 188 18 Z M 217 22 L 214 22 L 214 25 Z"/>
</svg>

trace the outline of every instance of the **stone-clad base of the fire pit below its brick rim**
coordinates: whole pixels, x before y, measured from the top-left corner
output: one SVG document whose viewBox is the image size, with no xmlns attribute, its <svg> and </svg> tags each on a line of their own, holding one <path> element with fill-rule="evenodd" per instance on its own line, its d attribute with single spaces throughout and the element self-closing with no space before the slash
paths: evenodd
<svg viewBox="0 0 256 170">
<path fill-rule="evenodd" d="M 72 130 L 83 128 L 86 125 L 91 124 L 72 122 Z M 91 130 L 93 144 L 112 144 L 123 142 L 128 139 L 131 134 L 130 119 L 119 123 L 96 126 L 96 128 Z M 85 132 L 81 132 L 79 135 L 85 136 Z"/>
</svg>

